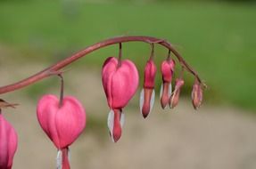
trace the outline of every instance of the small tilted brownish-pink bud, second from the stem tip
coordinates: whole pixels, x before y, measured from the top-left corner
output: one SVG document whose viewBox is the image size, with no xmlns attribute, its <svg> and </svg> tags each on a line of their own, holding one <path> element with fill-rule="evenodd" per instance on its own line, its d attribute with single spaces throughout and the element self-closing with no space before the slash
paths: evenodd
<svg viewBox="0 0 256 169">
<path fill-rule="evenodd" d="M 178 99 L 179 99 L 179 93 L 181 90 L 181 87 L 184 85 L 184 80 L 181 78 L 176 79 L 175 89 L 172 93 L 170 99 L 169 99 L 169 107 L 174 108 L 178 105 Z"/>
</svg>

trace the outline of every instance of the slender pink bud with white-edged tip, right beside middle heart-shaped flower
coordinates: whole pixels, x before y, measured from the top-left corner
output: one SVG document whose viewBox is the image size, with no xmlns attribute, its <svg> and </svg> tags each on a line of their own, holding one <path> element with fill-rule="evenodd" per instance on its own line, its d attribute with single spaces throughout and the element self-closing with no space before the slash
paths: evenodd
<svg viewBox="0 0 256 169">
<path fill-rule="evenodd" d="M 144 71 L 144 86 L 140 93 L 140 112 L 143 117 L 147 117 L 153 109 L 154 103 L 154 78 L 156 75 L 156 66 L 153 60 L 148 60 Z"/>
</svg>

